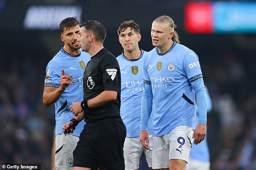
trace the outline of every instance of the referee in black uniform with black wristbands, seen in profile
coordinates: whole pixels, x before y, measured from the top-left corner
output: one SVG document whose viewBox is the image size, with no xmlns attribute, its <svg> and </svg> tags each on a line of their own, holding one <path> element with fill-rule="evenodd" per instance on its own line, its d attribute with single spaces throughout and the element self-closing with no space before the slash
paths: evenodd
<svg viewBox="0 0 256 170">
<path fill-rule="evenodd" d="M 84 101 L 70 107 L 74 115 L 84 111 L 86 122 L 73 152 L 72 170 L 124 170 L 126 127 L 120 116 L 118 61 L 103 47 L 106 29 L 99 21 L 81 25 L 80 35 L 82 51 L 90 53 L 91 60 L 83 77 Z"/>
</svg>

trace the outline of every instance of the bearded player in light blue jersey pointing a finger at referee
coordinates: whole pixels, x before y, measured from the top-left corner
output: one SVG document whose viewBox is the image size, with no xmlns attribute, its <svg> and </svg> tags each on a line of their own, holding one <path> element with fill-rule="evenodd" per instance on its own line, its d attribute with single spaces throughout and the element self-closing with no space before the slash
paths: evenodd
<svg viewBox="0 0 256 170">
<path fill-rule="evenodd" d="M 65 18 L 61 21 L 61 41 L 64 47 L 50 60 L 46 67 L 44 80 L 43 102 L 46 106 L 55 103 L 55 168 L 57 170 L 71 170 L 73 164 L 73 150 L 84 128 L 80 117 L 74 117 L 70 111 L 72 102 L 83 100 L 82 77 L 90 54 L 80 50 L 78 41 L 80 23 L 76 17 Z M 67 76 L 69 75 L 69 76 Z M 73 121 L 77 127 L 70 135 L 64 135 L 62 126 Z"/>
</svg>

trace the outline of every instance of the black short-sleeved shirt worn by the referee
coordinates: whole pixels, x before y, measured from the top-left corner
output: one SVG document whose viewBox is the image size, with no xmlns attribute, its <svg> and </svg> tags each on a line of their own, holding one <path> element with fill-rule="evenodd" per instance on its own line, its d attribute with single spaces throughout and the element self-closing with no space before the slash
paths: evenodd
<svg viewBox="0 0 256 170">
<path fill-rule="evenodd" d="M 84 100 L 98 96 L 105 90 L 117 91 L 116 100 L 106 104 L 90 108 L 84 111 L 84 119 L 87 123 L 108 118 L 121 118 L 120 93 L 121 76 L 118 61 L 115 56 L 105 48 L 91 57 L 83 77 Z"/>
</svg>

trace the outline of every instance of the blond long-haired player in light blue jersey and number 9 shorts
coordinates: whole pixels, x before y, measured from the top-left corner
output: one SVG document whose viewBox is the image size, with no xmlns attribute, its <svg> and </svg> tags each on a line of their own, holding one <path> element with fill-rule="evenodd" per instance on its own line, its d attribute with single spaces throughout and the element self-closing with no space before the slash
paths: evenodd
<svg viewBox="0 0 256 170">
<path fill-rule="evenodd" d="M 206 90 L 199 59 L 179 44 L 175 28 L 169 16 L 156 18 L 151 27 L 155 48 L 144 59 L 140 138 L 149 149 L 146 127 L 152 111 L 154 169 L 185 170 L 193 138 L 198 144 L 206 135 Z M 199 113 L 196 128 L 195 96 Z"/>
</svg>

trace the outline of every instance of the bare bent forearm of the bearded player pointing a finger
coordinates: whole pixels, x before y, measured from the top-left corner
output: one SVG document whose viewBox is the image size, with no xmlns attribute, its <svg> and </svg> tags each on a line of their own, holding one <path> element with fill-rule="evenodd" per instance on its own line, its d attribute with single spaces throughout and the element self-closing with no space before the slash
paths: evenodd
<svg viewBox="0 0 256 170">
<path fill-rule="evenodd" d="M 44 91 L 43 94 L 43 102 L 46 106 L 49 106 L 52 103 L 55 103 L 59 100 L 61 94 L 64 90 L 61 90 L 61 88 L 56 88 L 53 91 Z"/>
</svg>

